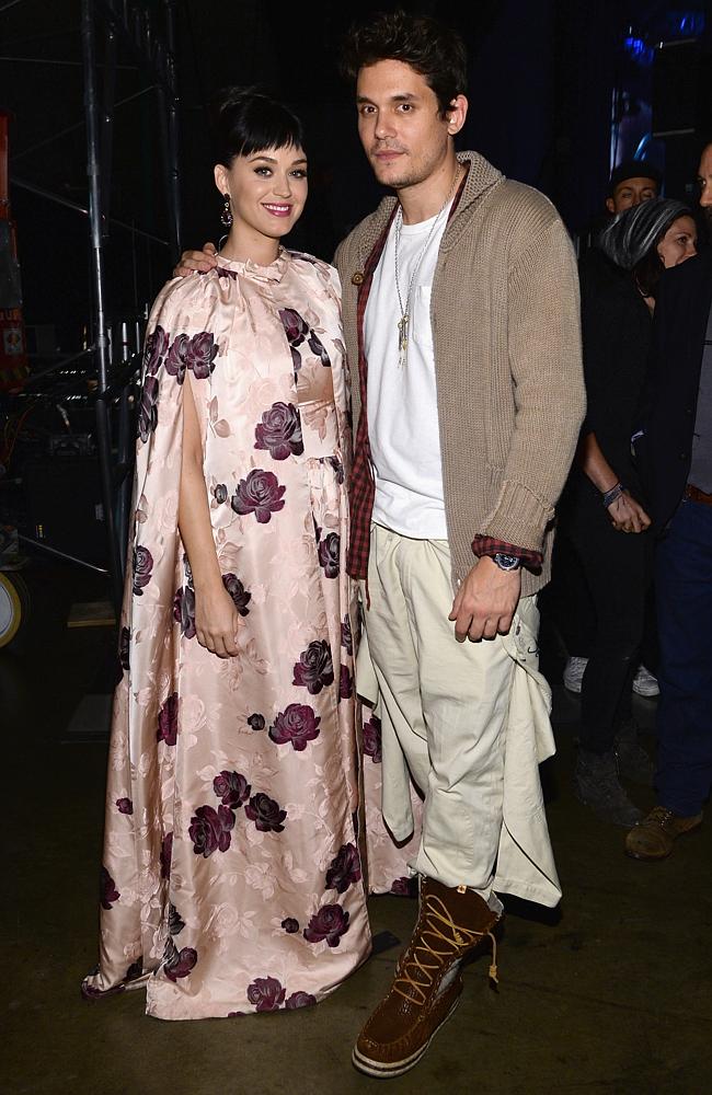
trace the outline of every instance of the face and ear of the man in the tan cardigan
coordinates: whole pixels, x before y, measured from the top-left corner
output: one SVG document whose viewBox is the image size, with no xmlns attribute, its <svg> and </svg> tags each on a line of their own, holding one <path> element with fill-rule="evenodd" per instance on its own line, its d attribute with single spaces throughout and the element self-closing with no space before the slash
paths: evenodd
<svg viewBox="0 0 712 1095">
<path fill-rule="evenodd" d="M 397 191 L 426 181 L 441 166 L 449 136 L 467 112 L 467 100 L 458 95 L 452 113 L 441 117 L 425 78 L 394 60 L 359 71 L 356 104 L 358 135 L 376 177 Z"/>
</svg>

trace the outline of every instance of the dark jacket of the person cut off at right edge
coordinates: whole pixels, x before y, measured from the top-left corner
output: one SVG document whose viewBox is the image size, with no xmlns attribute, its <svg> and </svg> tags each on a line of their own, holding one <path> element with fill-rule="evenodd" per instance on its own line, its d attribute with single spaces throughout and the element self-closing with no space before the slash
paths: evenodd
<svg viewBox="0 0 712 1095">
<path fill-rule="evenodd" d="M 688 258 L 661 279 L 653 346 L 634 442 L 653 527 L 668 523 L 690 471 L 700 368 L 710 306 L 712 252 Z"/>
</svg>

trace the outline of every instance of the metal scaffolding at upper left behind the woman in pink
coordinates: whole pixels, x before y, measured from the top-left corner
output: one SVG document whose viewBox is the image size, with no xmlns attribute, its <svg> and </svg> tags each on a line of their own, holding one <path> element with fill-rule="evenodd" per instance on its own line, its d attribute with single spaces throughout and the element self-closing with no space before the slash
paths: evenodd
<svg viewBox="0 0 712 1095">
<path fill-rule="evenodd" d="M 0 3 L 0 12 L 24 0 Z M 26 155 L 79 129 L 82 124 L 85 125 L 89 180 L 87 206 L 20 178 L 14 171 L 11 182 L 13 186 L 30 191 L 43 199 L 76 210 L 89 221 L 91 327 L 85 349 L 74 358 L 89 357 L 96 376 L 95 438 L 107 537 L 108 577 L 117 614 L 126 567 L 134 465 L 129 389 L 140 362 L 141 332 L 138 330 L 138 324 L 135 324 L 136 330 L 130 331 L 128 335 L 119 333 L 117 336 L 116 330 L 112 330 L 115 318 L 112 316 L 110 306 L 111 284 L 107 284 L 106 247 L 112 229 L 117 228 L 120 231 L 128 230 L 135 238 L 168 246 L 171 264 L 181 253 L 175 9 L 175 0 L 81 0 L 81 61 L 30 57 L 1 58 L 38 65 L 79 64 L 83 69 L 83 122 L 53 134 L 24 149 L 20 154 Z M 119 64 L 119 50 L 124 61 L 130 60 L 129 66 Z M 146 87 L 116 101 L 117 73 L 127 68 L 138 70 Z M 151 97 L 154 100 L 158 117 L 164 205 L 168 211 L 168 239 L 161 239 L 111 215 L 115 113 L 125 103 L 148 93 L 153 93 Z M 119 324 L 119 327 L 126 328 L 127 324 Z M 66 360 L 43 370 L 42 376 L 50 372 L 53 368 L 61 368 L 65 364 Z M 39 376 L 31 378 L 31 388 Z M 23 541 L 49 551 L 53 555 L 97 569 L 76 556 L 56 551 L 32 538 L 23 537 Z"/>
</svg>

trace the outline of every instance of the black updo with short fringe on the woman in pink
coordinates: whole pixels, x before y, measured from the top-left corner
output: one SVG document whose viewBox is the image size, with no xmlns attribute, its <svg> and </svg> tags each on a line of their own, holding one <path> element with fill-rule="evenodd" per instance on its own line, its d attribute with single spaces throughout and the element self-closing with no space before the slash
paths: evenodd
<svg viewBox="0 0 712 1095">
<path fill-rule="evenodd" d="M 263 149 L 303 148 L 301 122 L 261 88 L 226 88 L 213 101 L 215 162 Z"/>
</svg>

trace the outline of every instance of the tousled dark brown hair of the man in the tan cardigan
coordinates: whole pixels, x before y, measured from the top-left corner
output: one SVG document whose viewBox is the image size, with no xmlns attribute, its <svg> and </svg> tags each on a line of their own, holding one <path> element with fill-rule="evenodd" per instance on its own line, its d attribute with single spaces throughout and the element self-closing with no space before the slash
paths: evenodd
<svg viewBox="0 0 712 1095">
<path fill-rule="evenodd" d="M 420 72 L 435 92 L 443 116 L 467 89 L 464 42 L 457 31 L 428 15 L 378 12 L 351 28 L 341 62 L 347 79 L 355 81 L 359 69 L 387 60 L 403 61 Z"/>
</svg>

